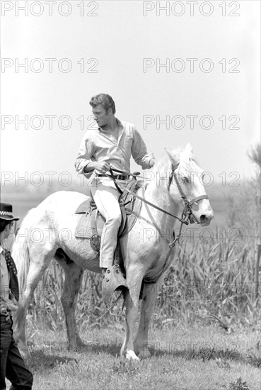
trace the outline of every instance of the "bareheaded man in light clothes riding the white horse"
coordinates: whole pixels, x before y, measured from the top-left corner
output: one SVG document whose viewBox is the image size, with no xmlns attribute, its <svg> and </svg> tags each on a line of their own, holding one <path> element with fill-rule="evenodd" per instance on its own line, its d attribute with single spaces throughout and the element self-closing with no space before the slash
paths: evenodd
<svg viewBox="0 0 261 390">
<path fill-rule="evenodd" d="M 125 184 L 129 179 L 127 172 L 130 172 L 131 156 L 143 169 L 153 167 L 155 158 L 147 152 L 144 140 L 134 125 L 115 117 L 115 102 L 110 95 L 93 96 L 90 104 L 97 125 L 84 135 L 75 167 L 77 172 L 89 179 L 91 196 L 105 218 L 100 242 L 100 267 L 104 296 L 110 296 L 115 286 L 126 286 L 119 267 L 112 267 L 122 217 L 120 191 L 110 177 L 110 169 L 124 172 L 113 174 L 118 184 Z"/>
</svg>

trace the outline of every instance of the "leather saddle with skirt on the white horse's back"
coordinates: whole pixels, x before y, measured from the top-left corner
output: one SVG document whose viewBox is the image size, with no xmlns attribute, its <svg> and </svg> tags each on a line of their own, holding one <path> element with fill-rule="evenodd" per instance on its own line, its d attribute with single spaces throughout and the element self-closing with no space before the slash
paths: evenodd
<svg viewBox="0 0 261 390">
<path fill-rule="evenodd" d="M 126 188 L 136 193 L 142 185 L 143 182 L 132 179 L 126 185 Z M 119 204 L 122 213 L 122 223 L 118 231 L 118 242 L 121 237 L 127 235 L 132 230 L 141 210 L 141 201 L 124 189 L 120 195 Z M 99 257 L 100 236 L 103 231 L 105 218 L 99 213 L 95 201 L 92 198 L 83 201 L 75 213 L 80 214 L 79 221 L 76 225 L 75 237 L 89 239 L 91 247 L 97 252 L 97 257 Z"/>
</svg>

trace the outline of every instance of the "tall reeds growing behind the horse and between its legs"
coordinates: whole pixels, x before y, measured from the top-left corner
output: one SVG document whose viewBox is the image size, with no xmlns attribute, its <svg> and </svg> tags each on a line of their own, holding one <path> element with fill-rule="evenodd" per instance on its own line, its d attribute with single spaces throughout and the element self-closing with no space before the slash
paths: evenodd
<svg viewBox="0 0 261 390">
<path fill-rule="evenodd" d="M 153 323 L 194 323 L 219 318 L 224 327 L 238 321 L 247 326 L 258 325 L 255 297 L 255 240 L 241 238 L 237 243 L 216 237 L 211 243 L 185 240 L 177 247 L 173 265 L 158 291 Z M 60 301 L 64 272 L 52 262 L 37 286 L 30 316 L 42 327 L 64 328 Z M 84 272 L 76 319 L 79 325 L 105 325 L 123 320 L 122 300 L 100 321 L 110 305 L 103 303 L 99 274 Z M 216 319 L 216 321 L 219 321 Z"/>
</svg>

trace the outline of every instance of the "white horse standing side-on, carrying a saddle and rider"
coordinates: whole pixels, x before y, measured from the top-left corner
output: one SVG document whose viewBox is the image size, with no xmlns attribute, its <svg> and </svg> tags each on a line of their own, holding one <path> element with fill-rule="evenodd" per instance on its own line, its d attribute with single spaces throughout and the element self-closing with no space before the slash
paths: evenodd
<svg viewBox="0 0 261 390">
<path fill-rule="evenodd" d="M 139 360 L 148 357 L 148 329 L 158 291 L 174 257 L 172 232 L 180 205 L 189 201 L 192 218 L 202 226 L 209 225 L 214 214 L 202 184 L 202 169 L 194 160 L 192 148 L 168 152 L 151 171 L 151 179 L 139 189 L 138 196 L 157 208 L 142 202 L 140 215 L 132 230 L 120 239 L 128 290 L 125 291 L 126 330 L 121 355 Z M 182 198 L 182 196 L 184 196 Z M 63 229 L 74 232 L 79 219 L 74 212 L 86 196 L 73 191 L 58 191 L 29 211 L 13 245 L 13 259 L 18 269 L 21 305 L 16 316 L 16 340 L 25 342 L 25 317 L 35 288 L 52 258 L 65 271 L 62 305 L 66 318 L 69 348 L 83 347 L 76 328 L 75 308 L 83 270 L 100 272 L 96 252 L 88 239 L 64 240 Z M 168 214 L 170 213 L 170 214 Z M 63 230 L 65 231 L 65 230 Z M 37 232 L 41 237 L 37 237 Z M 36 235 L 35 235 L 36 234 Z M 134 335 L 139 294 L 144 283 L 139 328 Z M 151 281 L 153 283 L 146 283 Z"/>
</svg>

